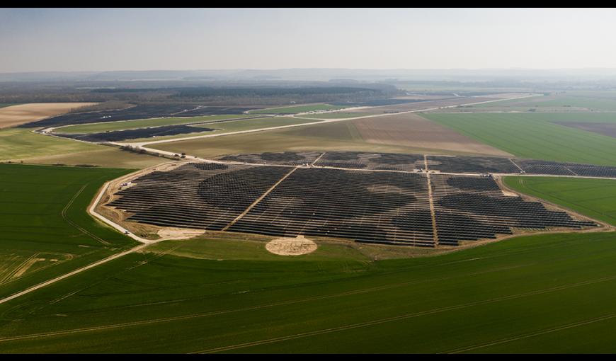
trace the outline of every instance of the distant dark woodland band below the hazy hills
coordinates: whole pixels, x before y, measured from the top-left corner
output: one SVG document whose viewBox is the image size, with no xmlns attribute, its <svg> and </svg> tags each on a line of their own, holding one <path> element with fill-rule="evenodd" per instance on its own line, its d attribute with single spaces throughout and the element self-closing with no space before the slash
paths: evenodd
<svg viewBox="0 0 616 361">
<path fill-rule="evenodd" d="M 280 105 L 328 101 L 368 101 L 399 95 L 391 84 L 353 84 L 326 82 L 309 84 L 216 84 L 178 86 L 178 84 L 7 84 L 0 88 L 0 103 L 165 103 L 199 102 L 203 105 Z M 88 86 L 86 86 L 88 85 Z M 160 86 L 157 86 L 160 85 Z"/>
</svg>

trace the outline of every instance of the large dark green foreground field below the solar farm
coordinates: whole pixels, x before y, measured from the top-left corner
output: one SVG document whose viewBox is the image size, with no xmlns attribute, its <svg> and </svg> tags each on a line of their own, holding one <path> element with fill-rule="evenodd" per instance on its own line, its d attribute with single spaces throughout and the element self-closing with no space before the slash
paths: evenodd
<svg viewBox="0 0 616 361">
<path fill-rule="evenodd" d="M 259 259 L 254 243 L 224 247 L 166 241 L 2 304 L 0 350 L 615 351 L 614 234 L 378 261 L 353 250 Z"/>
</svg>

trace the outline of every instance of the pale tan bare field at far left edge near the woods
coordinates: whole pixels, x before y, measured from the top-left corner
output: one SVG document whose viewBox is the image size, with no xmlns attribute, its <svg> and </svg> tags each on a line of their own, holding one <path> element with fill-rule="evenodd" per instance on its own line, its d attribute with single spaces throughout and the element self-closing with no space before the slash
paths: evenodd
<svg viewBox="0 0 616 361">
<path fill-rule="evenodd" d="M 68 113 L 70 110 L 98 103 L 28 103 L 0 108 L 0 129 L 14 127 L 52 115 Z"/>
</svg>

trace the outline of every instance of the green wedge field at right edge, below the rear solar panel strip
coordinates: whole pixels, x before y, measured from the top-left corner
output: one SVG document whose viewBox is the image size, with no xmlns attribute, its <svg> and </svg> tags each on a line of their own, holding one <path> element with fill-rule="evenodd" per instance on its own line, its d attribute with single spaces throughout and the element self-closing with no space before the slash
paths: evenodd
<svg viewBox="0 0 616 361">
<path fill-rule="evenodd" d="M 520 193 L 557 203 L 616 226 L 616 180 L 560 177 L 506 177 Z"/>
</svg>

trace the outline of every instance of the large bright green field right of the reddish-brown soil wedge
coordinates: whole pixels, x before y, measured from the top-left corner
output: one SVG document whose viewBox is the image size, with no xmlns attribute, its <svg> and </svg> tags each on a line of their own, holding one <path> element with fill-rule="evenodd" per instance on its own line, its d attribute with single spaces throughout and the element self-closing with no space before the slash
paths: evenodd
<svg viewBox="0 0 616 361">
<path fill-rule="evenodd" d="M 515 156 L 616 165 L 615 138 L 553 123 L 576 115 L 588 121 L 592 121 L 591 117 L 610 117 L 590 113 L 423 114 L 425 118 Z"/>
</svg>

